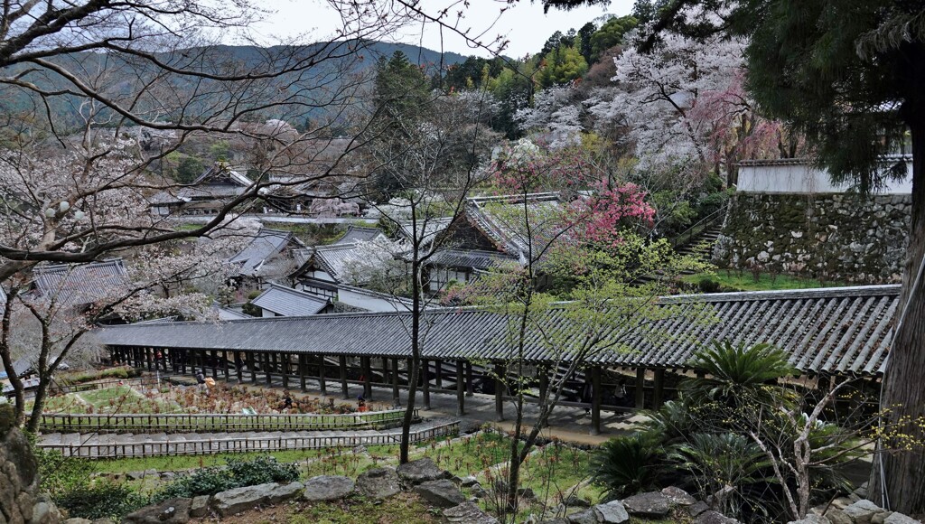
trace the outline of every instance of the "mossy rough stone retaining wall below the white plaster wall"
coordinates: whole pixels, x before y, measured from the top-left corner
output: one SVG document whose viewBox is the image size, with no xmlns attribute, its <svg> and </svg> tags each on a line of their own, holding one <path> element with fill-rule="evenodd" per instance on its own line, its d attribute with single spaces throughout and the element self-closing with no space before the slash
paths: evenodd
<svg viewBox="0 0 925 524">
<path fill-rule="evenodd" d="M 713 263 L 828 281 L 899 282 L 911 206 L 909 194 L 736 193 Z"/>
</svg>

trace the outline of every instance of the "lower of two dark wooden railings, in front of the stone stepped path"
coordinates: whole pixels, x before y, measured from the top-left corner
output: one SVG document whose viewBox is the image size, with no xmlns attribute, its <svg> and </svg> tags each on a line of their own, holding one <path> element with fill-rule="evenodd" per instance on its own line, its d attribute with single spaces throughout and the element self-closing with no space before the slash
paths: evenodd
<svg viewBox="0 0 925 524">
<path fill-rule="evenodd" d="M 452 421 L 410 433 L 411 443 L 447 437 L 459 432 L 459 421 Z M 366 435 L 279 436 L 272 438 L 199 439 L 151 443 L 39 443 L 45 450 L 57 450 L 65 456 L 84 458 L 130 458 L 160 455 L 212 455 L 216 453 L 253 453 L 286 450 L 389 445 L 401 441 L 401 432 Z"/>
</svg>

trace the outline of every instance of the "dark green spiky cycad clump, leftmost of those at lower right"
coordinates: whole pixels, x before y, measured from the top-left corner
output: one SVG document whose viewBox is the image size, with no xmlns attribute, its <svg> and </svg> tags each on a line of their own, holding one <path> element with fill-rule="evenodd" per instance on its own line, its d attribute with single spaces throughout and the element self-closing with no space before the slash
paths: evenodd
<svg viewBox="0 0 925 524">
<path fill-rule="evenodd" d="M 616 437 L 591 455 L 591 480 L 619 499 L 660 487 L 666 472 L 660 439 L 647 433 Z"/>
</svg>

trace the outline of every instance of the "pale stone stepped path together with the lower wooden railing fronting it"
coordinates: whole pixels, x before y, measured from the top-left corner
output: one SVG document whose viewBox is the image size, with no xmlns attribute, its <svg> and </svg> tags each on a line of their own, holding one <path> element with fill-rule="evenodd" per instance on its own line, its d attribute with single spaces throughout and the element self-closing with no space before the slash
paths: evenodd
<svg viewBox="0 0 925 524">
<path fill-rule="evenodd" d="M 428 418 L 411 428 L 412 443 L 459 430 L 455 418 Z M 37 445 L 66 456 L 128 458 L 324 449 L 399 443 L 401 430 L 246 431 L 227 433 L 48 433 Z"/>
</svg>

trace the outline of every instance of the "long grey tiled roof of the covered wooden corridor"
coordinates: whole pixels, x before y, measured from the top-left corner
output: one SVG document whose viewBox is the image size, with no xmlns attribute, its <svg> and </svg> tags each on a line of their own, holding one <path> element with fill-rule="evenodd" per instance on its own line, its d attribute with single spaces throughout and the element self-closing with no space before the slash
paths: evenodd
<svg viewBox="0 0 925 524">
<path fill-rule="evenodd" d="M 891 342 L 898 285 L 781 292 L 714 293 L 664 297 L 657 337 L 633 332 L 619 350 L 589 360 L 614 367 L 686 368 L 695 349 L 712 340 L 771 343 L 805 373 L 877 375 Z M 668 309 L 672 308 L 672 309 Z M 544 325 L 566 325 L 566 310 L 553 310 Z M 693 321 L 693 316 L 713 321 Z M 228 349 L 351 356 L 409 356 L 406 313 L 255 318 L 229 322 L 114 326 L 98 331 L 110 346 Z M 479 309 L 440 309 L 425 314 L 423 356 L 505 359 L 510 352 L 506 318 Z M 620 339 L 616 328 L 612 338 Z M 531 336 L 526 360 L 561 357 Z M 564 357 L 565 359 L 568 356 Z"/>
</svg>

